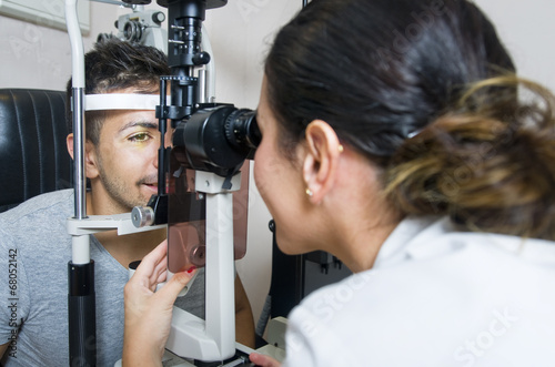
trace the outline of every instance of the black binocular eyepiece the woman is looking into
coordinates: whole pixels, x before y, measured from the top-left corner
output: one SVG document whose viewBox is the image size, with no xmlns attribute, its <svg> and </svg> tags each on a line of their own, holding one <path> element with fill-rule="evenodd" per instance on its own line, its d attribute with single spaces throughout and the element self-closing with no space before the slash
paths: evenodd
<svg viewBox="0 0 555 367">
<path fill-rule="evenodd" d="M 256 112 L 226 104 L 199 110 L 179 123 L 173 151 L 188 169 L 228 176 L 254 157 L 261 139 Z"/>
</svg>

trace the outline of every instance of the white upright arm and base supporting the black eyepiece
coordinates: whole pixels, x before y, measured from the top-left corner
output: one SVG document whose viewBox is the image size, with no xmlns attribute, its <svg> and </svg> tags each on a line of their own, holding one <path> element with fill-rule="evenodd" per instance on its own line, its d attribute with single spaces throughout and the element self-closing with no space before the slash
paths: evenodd
<svg viewBox="0 0 555 367">
<path fill-rule="evenodd" d="M 233 202 L 231 191 L 222 188 L 223 181 L 214 173 L 195 173 L 195 190 L 206 195 L 206 320 L 174 307 L 165 346 L 199 360 L 224 360 L 235 354 Z M 240 183 L 238 174 L 233 191 Z"/>
</svg>

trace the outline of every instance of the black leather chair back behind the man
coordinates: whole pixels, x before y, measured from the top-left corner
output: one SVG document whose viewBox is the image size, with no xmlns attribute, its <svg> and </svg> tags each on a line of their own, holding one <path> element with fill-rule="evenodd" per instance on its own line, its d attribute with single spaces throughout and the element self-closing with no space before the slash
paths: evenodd
<svg viewBox="0 0 555 367">
<path fill-rule="evenodd" d="M 65 92 L 0 89 L 0 212 L 72 187 Z"/>
</svg>

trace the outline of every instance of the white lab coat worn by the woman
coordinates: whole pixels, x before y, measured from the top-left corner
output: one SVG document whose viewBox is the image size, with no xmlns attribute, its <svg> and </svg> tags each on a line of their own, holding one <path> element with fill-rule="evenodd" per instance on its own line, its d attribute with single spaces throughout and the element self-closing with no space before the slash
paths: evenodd
<svg viewBox="0 0 555 367">
<path fill-rule="evenodd" d="M 555 243 L 404 220 L 290 315 L 285 366 L 555 366 Z"/>
</svg>

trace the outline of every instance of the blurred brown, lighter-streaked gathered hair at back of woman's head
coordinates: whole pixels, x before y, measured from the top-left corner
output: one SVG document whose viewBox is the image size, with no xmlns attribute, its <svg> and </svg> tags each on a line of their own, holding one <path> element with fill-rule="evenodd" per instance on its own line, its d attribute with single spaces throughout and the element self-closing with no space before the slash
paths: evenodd
<svg viewBox="0 0 555 367">
<path fill-rule="evenodd" d="M 385 170 L 385 192 L 405 214 L 555 239 L 554 109 L 555 96 L 536 83 L 478 82 L 457 110 L 405 141 Z"/>
</svg>

